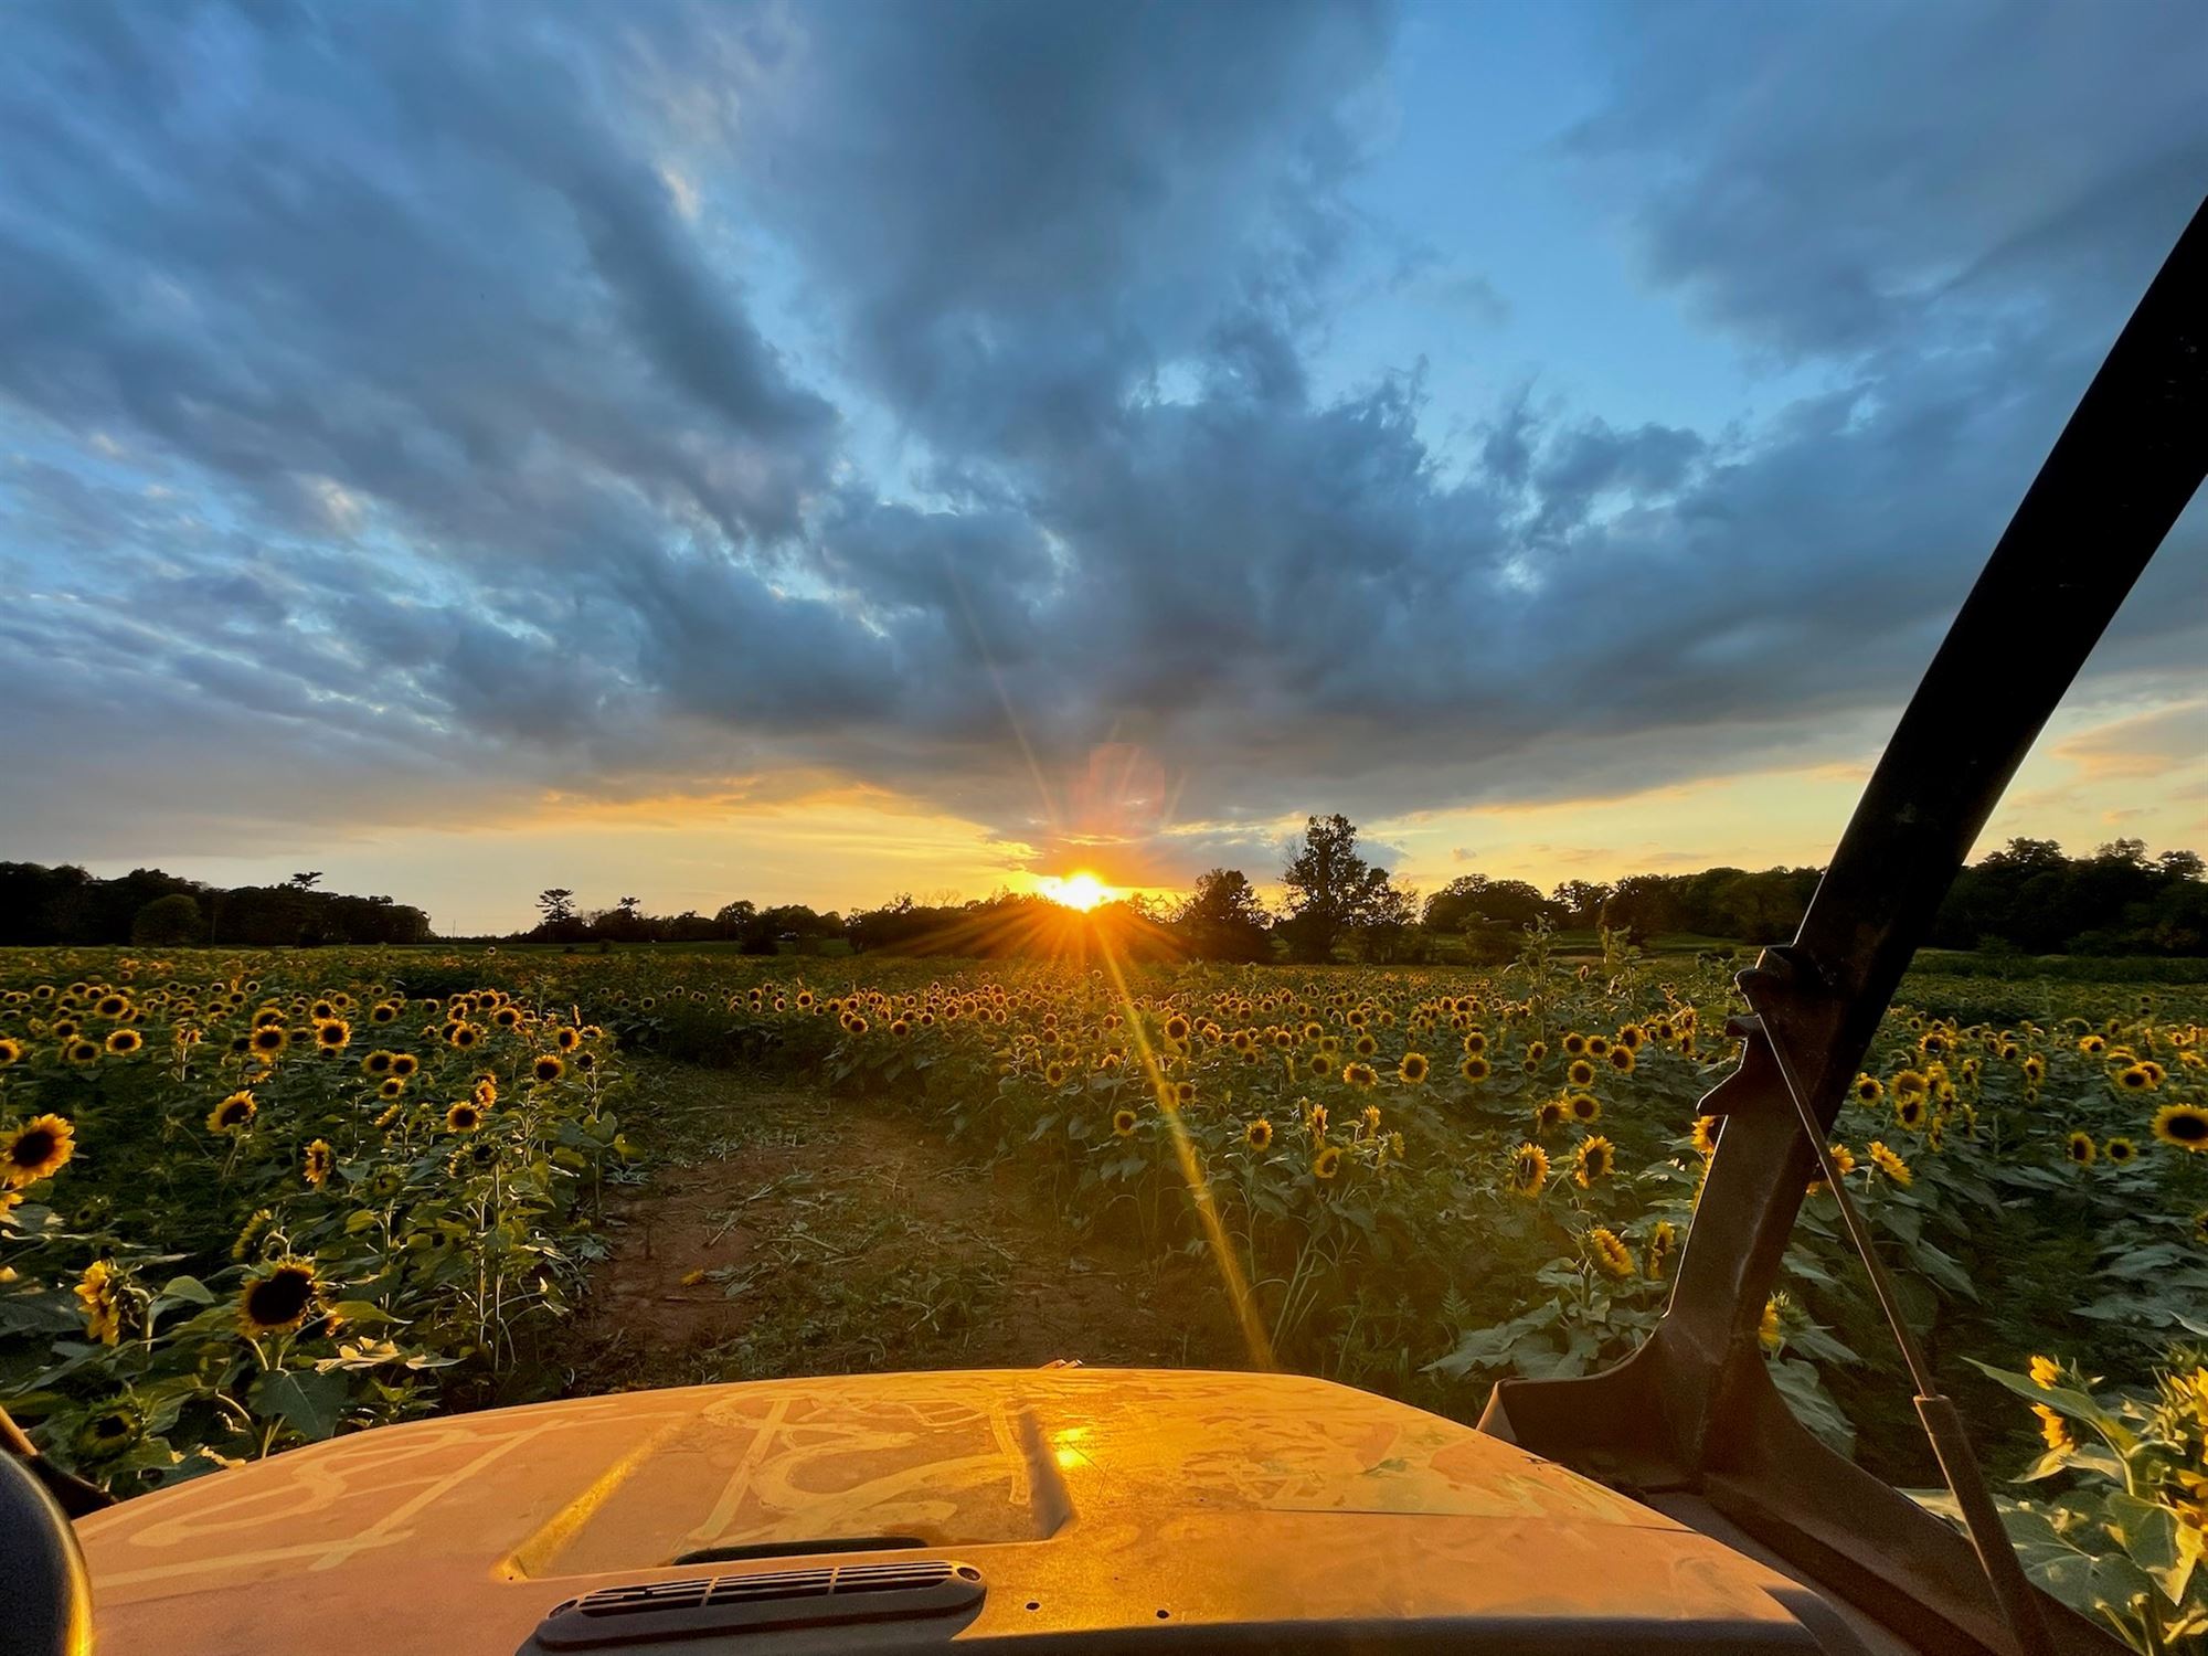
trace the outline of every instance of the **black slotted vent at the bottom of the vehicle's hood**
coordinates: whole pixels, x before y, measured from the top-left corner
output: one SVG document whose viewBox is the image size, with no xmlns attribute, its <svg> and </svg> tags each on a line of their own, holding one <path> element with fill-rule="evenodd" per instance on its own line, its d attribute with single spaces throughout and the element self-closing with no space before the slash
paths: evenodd
<svg viewBox="0 0 2208 1656">
<path fill-rule="evenodd" d="M 570 1599 L 537 1625 L 541 1649 L 603 1649 L 698 1634 L 832 1627 L 952 1616 L 985 1592 L 980 1570 L 947 1559 L 649 1581 Z"/>
</svg>

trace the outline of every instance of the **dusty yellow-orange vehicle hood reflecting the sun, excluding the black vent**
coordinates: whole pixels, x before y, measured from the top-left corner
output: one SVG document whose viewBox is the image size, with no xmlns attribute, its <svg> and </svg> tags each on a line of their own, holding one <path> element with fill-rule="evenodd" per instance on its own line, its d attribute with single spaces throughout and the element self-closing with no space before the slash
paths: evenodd
<svg viewBox="0 0 2208 1656">
<path fill-rule="evenodd" d="M 99 1647 L 163 1656 L 508 1656 L 576 1594 L 786 1570 L 854 1537 L 985 1574 L 983 1612 L 934 1634 L 954 1643 L 1592 1618 L 1813 1647 L 1762 1565 L 1468 1426 L 1296 1376 L 1022 1369 L 585 1398 L 298 1448 L 79 1535 Z M 700 1550 L 722 1561 L 678 1563 Z"/>
</svg>

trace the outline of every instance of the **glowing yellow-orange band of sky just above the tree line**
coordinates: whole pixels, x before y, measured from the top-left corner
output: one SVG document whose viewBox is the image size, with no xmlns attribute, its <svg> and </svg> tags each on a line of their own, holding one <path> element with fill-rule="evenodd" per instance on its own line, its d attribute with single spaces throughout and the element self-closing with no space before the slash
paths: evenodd
<svg viewBox="0 0 2208 1656">
<path fill-rule="evenodd" d="M 1431 892 L 1457 874 L 1528 879 L 1543 890 L 1568 879 L 1685 872 L 1711 866 L 1822 863 L 1868 777 L 1855 764 L 1766 768 L 1645 788 L 1607 799 L 1360 815 L 1354 799 L 1320 802 L 1358 821 L 1365 843 L 1384 848 L 1398 879 Z M 1036 839 L 991 832 L 978 821 L 879 788 L 824 786 L 773 804 L 645 799 L 590 806 L 543 802 L 532 819 L 442 828 L 362 828 L 291 854 L 144 861 L 212 883 L 280 881 L 296 868 L 325 870 L 322 885 L 384 892 L 428 910 L 444 934 L 510 932 L 532 921 L 532 899 L 567 885 L 585 907 L 620 896 L 649 912 L 713 912 L 735 896 L 870 907 L 899 892 L 956 901 L 994 890 L 1038 890 L 1078 870 L 1102 883 L 1133 883 L 1135 868 L 1170 868 L 1228 828 L 1245 843 L 1232 859 L 1267 894 L 1281 846 L 1301 815 L 1272 821 L 1168 824 L 1139 841 L 1086 837 L 1044 854 Z M 2113 702 L 2058 713 L 2038 751 L 1996 810 L 1981 852 L 2011 835 L 2060 839 L 2071 850 L 2117 835 L 2151 848 L 2208 846 L 2208 700 Z M 1062 841 L 1064 843 L 1064 841 Z M 1265 846 L 1272 850 L 1267 852 Z M 95 872 L 130 863 L 99 859 Z M 1186 859 L 1183 883 L 1208 866 Z M 1172 896 L 1183 883 L 1137 883 Z"/>
</svg>

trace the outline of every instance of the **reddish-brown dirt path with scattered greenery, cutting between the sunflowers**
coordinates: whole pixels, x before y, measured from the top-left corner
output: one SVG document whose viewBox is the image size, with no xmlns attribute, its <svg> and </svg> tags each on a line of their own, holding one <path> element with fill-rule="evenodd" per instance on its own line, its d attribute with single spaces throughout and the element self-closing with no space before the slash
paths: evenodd
<svg viewBox="0 0 2208 1656">
<path fill-rule="evenodd" d="M 896 1104 L 651 1066 L 578 1389 L 866 1369 L 1241 1367 L 1201 1263 L 1071 1236 Z M 629 1119 L 645 1111 L 631 1106 Z"/>
</svg>

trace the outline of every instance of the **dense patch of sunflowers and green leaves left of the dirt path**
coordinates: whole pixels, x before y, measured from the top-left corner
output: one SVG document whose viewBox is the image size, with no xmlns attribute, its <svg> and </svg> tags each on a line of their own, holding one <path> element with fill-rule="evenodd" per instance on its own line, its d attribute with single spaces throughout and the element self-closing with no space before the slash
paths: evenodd
<svg viewBox="0 0 2208 1656">
<path fill-rule="evenodd" d="M 625 1155 L 612 1042 L 333 965 L 9 960 L 0 1395 L 117 1493 L 545 1387 Z"/>
</svg>

